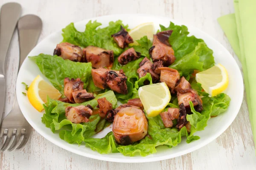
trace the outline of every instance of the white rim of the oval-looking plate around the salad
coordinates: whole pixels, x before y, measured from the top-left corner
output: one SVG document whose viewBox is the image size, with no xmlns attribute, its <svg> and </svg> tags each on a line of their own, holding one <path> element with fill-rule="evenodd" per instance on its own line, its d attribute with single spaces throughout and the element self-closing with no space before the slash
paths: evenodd
<svg viewBox="0 0 256 170">
<path fill-rule="evenodd" d="M 175 24 L 182 24 L 182 25 L 185 25 L 187 27 L 190 27 L 190 28 L 193 28 L 193 29 L 196 29 L 197 31 L 200 31 L 202 35 L 204 36 L 207 36 L 209 37 L 209 39 L 211 39 L 212 41 L 214 41 L 214 44 L 218 44 L 220 45 L 223 50 L 225 52 L 227 52 L 228 54 L 230 54 L 230 52 L 224 47 L 224 45 L 222 45 L 220 42 L 218 42 L 217 40 L 215 40 L 215 38 L 211 37 L 209 34 L 205 33 L 204 31 L 202 31 L 201 29 L 198 29 L 196 28 L 195 26 L 191 26 L 189 24 L 184 24 L 184 22 L 182 21 L 178 21 L 178 20 L 174 20 L 172 18 L 169 18 L 169 17 L 162 17 L 162 16 L 157 16 L 157 15 L 153 15 L 153 14 L 111 14 L 111 15 L 104 15 L 104 16 L 99 16 L 99 17 L 92 17 L 92 18 L 88 18 L 88 19 L 85 19 L 85 20 L 81 20 L 81 21 L 78 21 L 76 23 L 74 23 L 75 25 L 76 24 L 79 24 L 79 23 L 82 23 L 82 22 L 86 22 L 88 20 L 98 20 L 99 18 L 108 18 L 108 17 L 116 17 L 116 16 L 119 16 L 120 18 L 122 17 L 131 17 L 131 15 L 133 16 L 141 16 L 141 17 L 157 17 L 157 18 L 162 18 L 164 20 L 169 20 L 169 21 L 172 21 L 174 22 Z M 57 31 L 54 31 L 53 33 L 49 34 L 47 37 L 50 37 L 56 33 L 58 33 L 59 31 L 61 30 L 57 30 Z M 44 42 L 47 37 L 44 37 L 43 40 L 41 40 L 41 42 L 39 42 L 34 48 L 38 47 L 42 42 Z M 32 49 L 32 51 L 34 50 L 34 48 Z M 29 54 L 31 53 L 31 51 L 29 52 Z M 28 54 L 28 56 L 29 56 Z M 26 57 L 25 60 L 28 59 L 28 56 Z M 236 62 L 236 60 L 234 59 L 234 57 L 232 56 L 232 54 L 230 54 L 230 57 L 234 60 L 234 62 L 236 63 L 236 65 L 234 65 L 234 67 L 236 67 L 238 70 L 239 70 L 239 75 L 237 75 L 238 77 L 241 78 L 241 80 L 243 80 L 243 77 L 242 77 L 242 74 L 241 74 L 241 70 Z M 25 61 L 24 60 L 24 61 Z M 23 64 L 21 65 L 21 68 L 23 68 Z M 20 75 L 20 72 L 18 73 L 18 76 L 17 76 L 17 79 L 21 77 Z M 243 82 L 240 82 L 241 84 L 241 88 L 244 89 L 244 84 Z M 18 83 L 16 82 L 16 89 L 18 87 Z M 20 91 L 19 91 L 20 92 Z M 17 98 L 19 98 L 21 96 L 21 93 L 19 94 L 18 91 L 16 91 L 16 95 L 17 95 Z M 33 123 L 32 120 L 30 120 L 29 116 L 27 116 L 26 114 L 24 114 L 23 112 L 25 112 L 23 106 L 20 104 L 21 102 L 19 102 L 20 100 L 18 99 L 18 104 L 20 106 L 20 110 L 22 111 L 23 113 L 23 116 L 26 118 L 26 120 L 29 122 L 29 124 L 41 135 L 43 136 L 45 139 L 47 139 L 49 142 L 52 142 L 53 144 L 57 145 L 58 147 L 61 147 L 63 148 L 64 150 L 68 150 L 72 153 L 76 153 L 78 155 L 81 155 L 81 156 L 85 156 L 85 157 L 88 157 L 88 158 L 92 158 L 92 159 L 98 159 L 98 160 L 102 160 L 102 161 L 111 161 L 111 162 L 123 162 L 123 163 L 142 163 L 142 162 L 154 162 L 154 161 L 160 161 L 160 160 L 166 160 L 166 159 L 171 159 L 171 158 L 175 158 L 175 157 L 178 157 L 178 156 L 182 156 L 182 155 L 185 155 L 187 153 L 191 153 L 192 151 L 195 151 L 195 150 L 198 150 L 199 148 L 201 147 L 204 147 L 205 145 L 209 144 L 210 142 L 212 142 L 214 139 L 218 138 L 222 133 L 224 133 L 224 131 L 227 130 L 227 128 L 232 124 L 232 122 L 236 119 L 236 116 L 237 114 L 239 113 L 239 110 L 241 108 L 241 104 L 242 104 L 242 101 L 243 101 L 243 97 L 244 97 L 244 91 L 242 90 L 240 95 L 239 96 L 242 96 L 240 97 L 240 100 L 239 100 L 239 105 L 237 105 L 238 107 L 236 108 L 236 114 L 232 117 L 232 119 L 229 119 L 228 123 L 226 123 L 224 125 L 224 127 L 222 127 L 221 130 L 219 130 L 218 132 L 216 132 L 214 135 L 210 136 L 209 138 L 205 139 L 201 144 L 198 144 L 194 147 L 191 147 L 187 150 L 183 150 L 183 151 L 180 151 L 177 153 L 177 155 L 173 156 L 173 155 L 164 155 L 164 156 L 157 156 L 157 157 L 134 157 L 134 158 L 138 158 L 138 159 L 125 159 L 125 157 L 122 157 L 122 158 L 112 158 L 112 157 L 107 157 L 107 156 L 99 156 L 99 155 L 93 155 L 93 154 L 90 154 L 90 153 L 85 153 L 83 151 L 76 151 L 74 152 L 72 150 L 71 147 L 67 147 L 65 144 L 62 144 L 58 141 L 56 141 L 55 139 L 51 138 L 50 135 L 48 135 L 47 133 L 44 132 L 44 130 L 41 130 L 39 127 L 37 127 L 35 125 L 35 123 Z M 106 155 L 106 154 L 104 154 Z M 152 154 L 154 155 L 154 154 Z M 140 158 L 140 159 L 139 159 Z M 144 159 L 143 159 L 144 158 Z"/>
</svg>

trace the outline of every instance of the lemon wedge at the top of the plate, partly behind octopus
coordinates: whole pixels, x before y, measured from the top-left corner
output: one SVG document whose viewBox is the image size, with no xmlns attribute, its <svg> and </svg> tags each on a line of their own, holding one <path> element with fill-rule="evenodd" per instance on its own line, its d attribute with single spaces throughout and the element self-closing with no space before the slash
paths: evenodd
<svg viewBox="0 0 256 170">
<path fill-rule="evenodd" d="M 140 40 L 140 38 L 144 36 L 147 36 L 148 40 L 153 41 L 154 23 L 140 24 L 139 26 L 131 29 L 129 31 L 129 35 L 134 40 L 134 43 L 131 43 L 130 45 L 138 45 L 138 42 L 136 40 Z"/>
</svg>

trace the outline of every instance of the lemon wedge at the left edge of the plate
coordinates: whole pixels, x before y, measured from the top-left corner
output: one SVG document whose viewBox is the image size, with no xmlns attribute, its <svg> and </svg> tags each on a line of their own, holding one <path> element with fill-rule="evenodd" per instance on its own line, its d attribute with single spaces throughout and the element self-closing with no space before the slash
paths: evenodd
<svg viewBox="0 0 256 170">
<path fill-rule="evenodd" d="M 47 96 L 51 99 L 59 99 L 61 93 L 38 75 L 28 89 L 28 98 L 32 106 L 38 111 L 44 110 L 43 104 L 47 102 Z"/>
</svg>

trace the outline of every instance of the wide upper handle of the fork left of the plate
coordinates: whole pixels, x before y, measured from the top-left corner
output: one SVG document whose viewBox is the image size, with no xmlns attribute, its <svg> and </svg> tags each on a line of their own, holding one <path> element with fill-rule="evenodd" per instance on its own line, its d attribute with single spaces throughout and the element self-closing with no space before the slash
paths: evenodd
<svg viewBox="0 0 256 170">
<path fill-rule="evenodd" d="M 20 44 L 20 65 L 35 47 L 42 30 L 42 20 L 33 14 L 21 17 L 17 24 Z"/>
</svg>

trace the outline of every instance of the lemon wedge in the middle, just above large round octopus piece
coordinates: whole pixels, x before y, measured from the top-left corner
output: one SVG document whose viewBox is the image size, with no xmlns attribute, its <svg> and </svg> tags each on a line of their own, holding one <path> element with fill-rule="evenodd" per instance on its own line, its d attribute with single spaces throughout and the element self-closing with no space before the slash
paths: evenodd
<svg viewBox="0 0 256 170">
<path fill-rule="evenodd" d="M 151 117 L 161 113 L 171 100 L 171 94 L 165 82 L 142 86 L 138 92 L 146 113 Z"/>
</svg>

